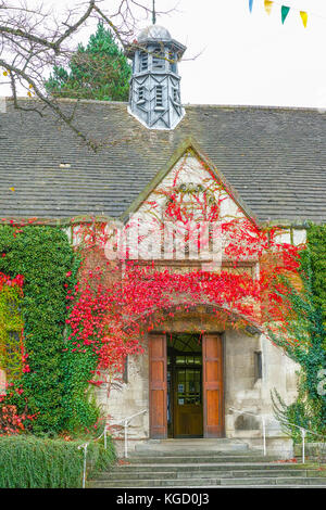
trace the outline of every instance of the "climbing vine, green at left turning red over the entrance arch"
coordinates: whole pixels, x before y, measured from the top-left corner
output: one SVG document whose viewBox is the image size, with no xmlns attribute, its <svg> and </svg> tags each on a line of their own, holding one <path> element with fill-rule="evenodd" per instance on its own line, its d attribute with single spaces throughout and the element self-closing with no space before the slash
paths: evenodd
<svg viewBox="0 0 326 510">
<path fill-rule="evenodd" d="M 164 330 L 166 317 L 198 304 L 209 305 L 225 328 L 254 326 L 272 335 L 276 330 L 266 324 L 277 324 L 285 349 L 294 349 L 298 342 L 306 345 L 305 337 L 298 340 L 287 328 L 298 313 L 287 279 L 298 277 L 303 246 L 278 242 L 279 229 L 261 229 L 240 207 L 223 214 L 229 190 L 212 173 L 210 182 L 185 186 L 181 171 L 145 201 L 140 213 L 150 225 L 146 232 L 137 215 L 118 228 L 96 219 L 76 221 L 73 245 L 60 227 L 0 227 L 0 271 L 3 288 L 11 289 L 5 288 L 7 297 L 0 292 L 0 310 L 9 331 L 4 308 L 12 293 L 23 346 L 22 366 L 17 364 L 2 409 L 15 406 L 26 418 L 25 429 L 90 429 L 100 418 L 90 390 L 105 384 L 110 392 L 126 356 L 143 352 L 147 333 Z M 161 250 L 158 240 L 166 222 L 174 227 L 172 260 L 184 246 L 187 267 L 191 253 L 200 259 L 220 235 L 217 266 L 199 264 L 178 272 L 165 259 L 143 258 L 150 245 Z M 253 270 L 258 263 L 259 272 Z M 14 278 L 22 278 L 21 286 L 17 281 L 8 284 Z"/>
</svg>

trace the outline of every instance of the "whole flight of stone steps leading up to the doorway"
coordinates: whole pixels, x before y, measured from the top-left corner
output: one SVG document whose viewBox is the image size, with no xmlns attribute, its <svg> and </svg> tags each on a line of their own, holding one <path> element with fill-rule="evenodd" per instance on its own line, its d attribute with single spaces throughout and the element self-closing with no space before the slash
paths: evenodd
<svg viewBox="0 0 326 510">
<path fill-rule="evenodd" d="M 137 445 L 128 459 L 100 473 L 89 486 L 326 488 L 325 471 L 278 460 L 235 439 L 149 441 Z"/>
</svg>

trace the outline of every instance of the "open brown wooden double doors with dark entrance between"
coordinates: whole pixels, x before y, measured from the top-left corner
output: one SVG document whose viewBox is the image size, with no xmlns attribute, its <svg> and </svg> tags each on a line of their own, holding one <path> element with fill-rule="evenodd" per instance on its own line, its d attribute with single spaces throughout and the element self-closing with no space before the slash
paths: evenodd
<svg viewBox="0 0 326 510">
<path fill-rule="evenodd" d="M 186 353 L 184 357 L 184 364 L 180 356 L 177 362 L 176 358 L 167 358 L 166 335 L 150 335 L 150 436 L 222 437 L 224 378 L 221 335 L 203 335 L 200 356 L 191 358 Z"/>
</svg>

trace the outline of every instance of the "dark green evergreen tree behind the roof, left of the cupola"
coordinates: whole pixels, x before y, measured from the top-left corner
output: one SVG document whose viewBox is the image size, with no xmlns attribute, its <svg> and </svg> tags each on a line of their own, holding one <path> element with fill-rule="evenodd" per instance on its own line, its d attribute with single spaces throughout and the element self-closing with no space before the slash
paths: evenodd
<svg viewBox="0 0 326 510">
<path fill-rule="evenodd" d="M 131 68 L 110 30 L 99 23 L 86 48 L 80 43 L 70 69 L 54 66 L 46 82 L 55 98 L 127 101 Z"/>
</svg>

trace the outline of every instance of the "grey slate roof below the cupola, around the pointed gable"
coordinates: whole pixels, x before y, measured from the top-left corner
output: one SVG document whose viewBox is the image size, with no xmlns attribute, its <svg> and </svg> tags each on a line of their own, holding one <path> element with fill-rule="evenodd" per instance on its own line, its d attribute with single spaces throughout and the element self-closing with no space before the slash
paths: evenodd
<svg viewBox="0 0 326 510">
<path fill-rule="evenodd" d="M 63 103 L 67 111 L 76 106 Z M 118 217 L 192 137 L 259 220 L 326 221 L 325 113 L 190 105 L 174 131 L 153 131 L 128 114 L 126 103 L 83 101 L 75 123 L 104 146 L 93 153 L 50 113 L 40 118 L 7 100 L 0 217 Z"/>
</svg>

